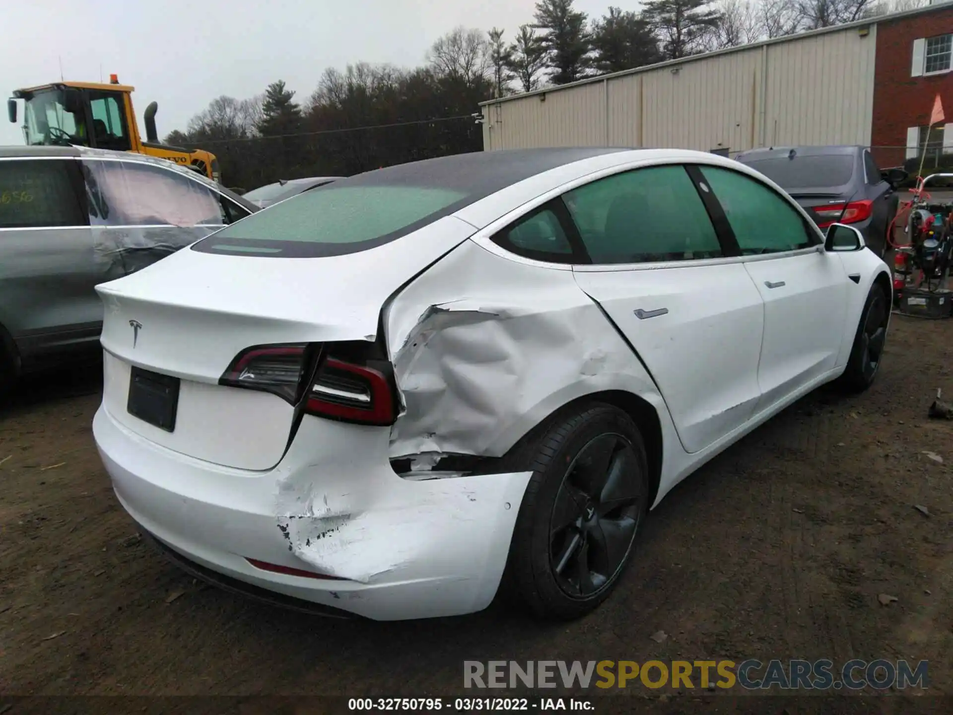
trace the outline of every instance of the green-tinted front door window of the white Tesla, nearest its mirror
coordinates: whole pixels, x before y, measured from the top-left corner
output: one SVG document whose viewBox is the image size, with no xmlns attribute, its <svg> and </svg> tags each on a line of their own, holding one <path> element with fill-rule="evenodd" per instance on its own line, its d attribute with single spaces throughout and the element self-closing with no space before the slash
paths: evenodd
<svg viewBox="0 0 953 715">
<path fill-rule="evenodd" d="M 700 169 L 728 218 L 741 255 L 797 251 L 820 242 L 808 231 L 803 216 L 760 181 L 720 167 Z"/>
</svg>

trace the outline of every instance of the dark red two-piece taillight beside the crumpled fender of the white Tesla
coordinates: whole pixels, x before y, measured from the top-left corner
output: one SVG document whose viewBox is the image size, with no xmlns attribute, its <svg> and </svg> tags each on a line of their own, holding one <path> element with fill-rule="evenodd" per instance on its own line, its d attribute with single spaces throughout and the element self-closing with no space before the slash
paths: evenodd
<svg viewBox="0 0 953 715">
<path fill-rule="evenodd" d="M 269 392 L 291 404 L 301 396 L 304 412 L 317 417 L 394 424 L 394 371 L 389 361 L 375 356 L 374 343 L 325 343 L 323 350 L 314 348 L 256 345 L 239 353 L 218 383 Z"/>
</svg>

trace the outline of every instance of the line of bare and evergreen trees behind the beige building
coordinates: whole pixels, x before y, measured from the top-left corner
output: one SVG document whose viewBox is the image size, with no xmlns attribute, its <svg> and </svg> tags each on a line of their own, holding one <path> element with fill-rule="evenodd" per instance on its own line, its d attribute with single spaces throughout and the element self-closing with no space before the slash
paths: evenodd
<svg viewBox="0 0 953 715">
<path fill-rule="evenodd" d="M 573 0 L 539 0 L 513 32 L 457 27 L 424 65 L 330 68 L 304 101 L 283 81 L 262 94 L 220 96 L 166 137 L 218 156 L 242 190 L 278 179 L 351 175 L 482 149 L 481 101 L 532 92 L 705 51 L 831 27 L 928 0 L 649 0 L 590 18 Z"/>
</svg>

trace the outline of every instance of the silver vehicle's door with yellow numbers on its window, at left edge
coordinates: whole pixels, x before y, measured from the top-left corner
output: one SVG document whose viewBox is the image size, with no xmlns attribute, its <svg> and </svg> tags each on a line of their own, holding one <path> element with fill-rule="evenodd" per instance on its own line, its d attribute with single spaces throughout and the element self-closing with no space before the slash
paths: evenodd
<svg viewBox="0 0 953 715">
<path fill-rule="evenodd" d="M 0 159 L 0 323 L 24 357 L 98 337 L 95 284 L 76 160 Z"/>
</svg>

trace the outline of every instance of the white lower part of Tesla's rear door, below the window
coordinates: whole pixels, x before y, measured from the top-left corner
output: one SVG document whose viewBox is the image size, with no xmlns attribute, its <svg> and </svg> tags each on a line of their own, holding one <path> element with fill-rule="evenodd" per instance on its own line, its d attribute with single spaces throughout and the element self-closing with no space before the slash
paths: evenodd
<svg viewBox="0 0 953 715">
<path fill-rule="evenodd" d="M 741 263 L 665 265 L 575 276 L 645 360 L 685 451 L 698 452 L 754 413 L 764 306 Z"/>
</svg>

